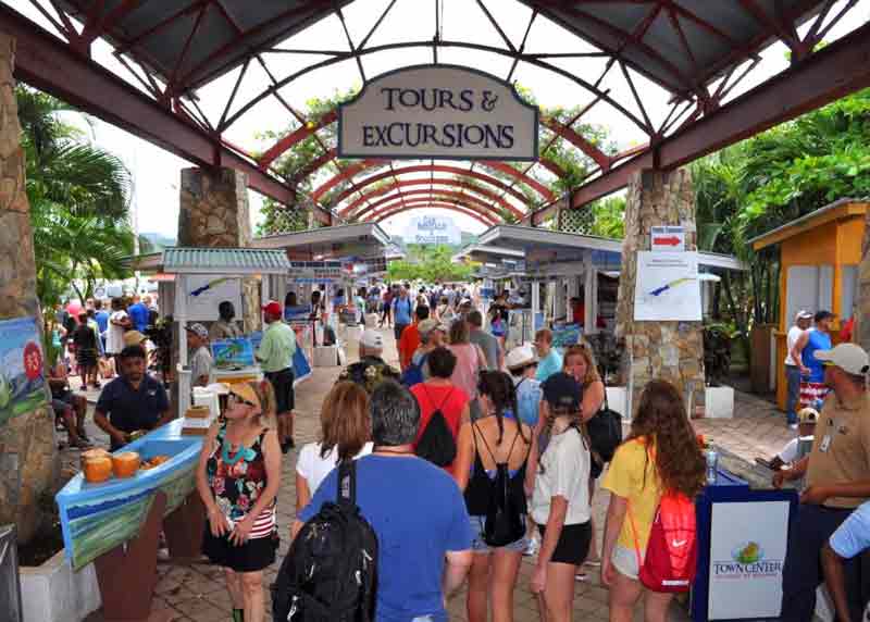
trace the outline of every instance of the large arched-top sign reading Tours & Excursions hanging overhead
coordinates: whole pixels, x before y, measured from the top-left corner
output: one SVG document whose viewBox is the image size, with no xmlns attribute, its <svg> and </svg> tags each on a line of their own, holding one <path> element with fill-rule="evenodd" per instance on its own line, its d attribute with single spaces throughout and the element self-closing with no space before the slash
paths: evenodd
<svg viewBox="0 0 870 622">
<path fill-rule="evenodd" d="M 382 74 L 338 110 L 338 157 L 536 161 L 537 107 L 468 67 Z"/>
</svg>

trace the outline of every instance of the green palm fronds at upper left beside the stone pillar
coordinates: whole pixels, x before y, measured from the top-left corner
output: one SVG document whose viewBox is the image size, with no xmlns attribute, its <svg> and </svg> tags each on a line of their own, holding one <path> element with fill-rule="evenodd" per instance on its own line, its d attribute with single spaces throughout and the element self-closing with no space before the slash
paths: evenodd
<svg viewBox="0 0 870 622">
<path fill-rule="evenodd" d="M 37 295 L 49 307 L 72 287 L 84 300 L 92 295 L 98 279 L 130 275 L 123 263 L 134 249 L 127 224 L 129 172 L 120 159 L 63 121 L 63 113 L 72 110 L 63 102 L 21 86 L 15 97 L 26 158 Z"/>
</svg>

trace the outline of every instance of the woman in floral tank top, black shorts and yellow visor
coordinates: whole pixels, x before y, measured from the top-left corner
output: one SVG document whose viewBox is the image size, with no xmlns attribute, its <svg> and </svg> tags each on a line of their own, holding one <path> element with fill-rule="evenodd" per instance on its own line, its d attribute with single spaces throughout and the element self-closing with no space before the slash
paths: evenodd
<svg viewBox="0 0 870 622">
<path fill-rule="evenodd" d="M 233 620 L 263 622 L 263 569 L 275 561 L 281 445 L 268 381 L 229 386 L 202 443 L 197 489 L 209 517 L 203 552 L 224 568 Z"/>
</svg>

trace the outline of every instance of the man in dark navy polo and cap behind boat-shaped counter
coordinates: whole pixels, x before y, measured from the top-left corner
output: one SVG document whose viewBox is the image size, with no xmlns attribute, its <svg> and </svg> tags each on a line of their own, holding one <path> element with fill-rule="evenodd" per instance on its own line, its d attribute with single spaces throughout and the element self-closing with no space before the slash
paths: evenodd
<svg viewBox="0 0 870 622">
<path fill-rule="evenodd" d="M 154 430 L 173 419 L 163 385 L 145 372 L 145 349 L 127 346 L 119 363 L 121 375 L 102 389 L 94 412 L 94 423 L 109 435 L 112 451 L 129 443 L 134 432 Z"/>
</svg>

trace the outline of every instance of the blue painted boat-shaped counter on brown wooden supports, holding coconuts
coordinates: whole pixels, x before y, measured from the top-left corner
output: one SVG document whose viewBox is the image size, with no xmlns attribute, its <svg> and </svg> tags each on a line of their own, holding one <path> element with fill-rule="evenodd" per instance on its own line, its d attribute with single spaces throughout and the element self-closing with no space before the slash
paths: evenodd
<svg viewBox="0 0 870 622">
<path fill-rule="evenodd" d="M 75 571 L 94 562 L 105 620 L 148 618 L 161 531 L 172 560 L 200 555 L 206 511 L 195 471 L 202 437 L 183 435 L 183 426 L 175 420 L 115 452 L 135 451 L 153 467 L 126 477 L 102 473 L 108 478 L 99 483 L 83 471 L 55 496 L 66 559 Z"/>
</svg>

